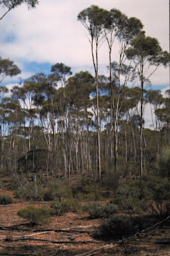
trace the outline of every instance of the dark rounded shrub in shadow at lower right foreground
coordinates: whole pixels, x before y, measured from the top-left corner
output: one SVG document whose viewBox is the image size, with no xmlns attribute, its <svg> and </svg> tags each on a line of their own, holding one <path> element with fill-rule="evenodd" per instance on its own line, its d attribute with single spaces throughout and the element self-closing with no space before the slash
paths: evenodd
<svg viewBox="0 0 170 256">
<path fill-rule="evenodd" d="M 104 219 L 101 229 L 105 235 L 112 235 L 114 238 L 126 237 L 139 231 L 139 225 L 135 217 L 118 216 Z"/>
</svg>

